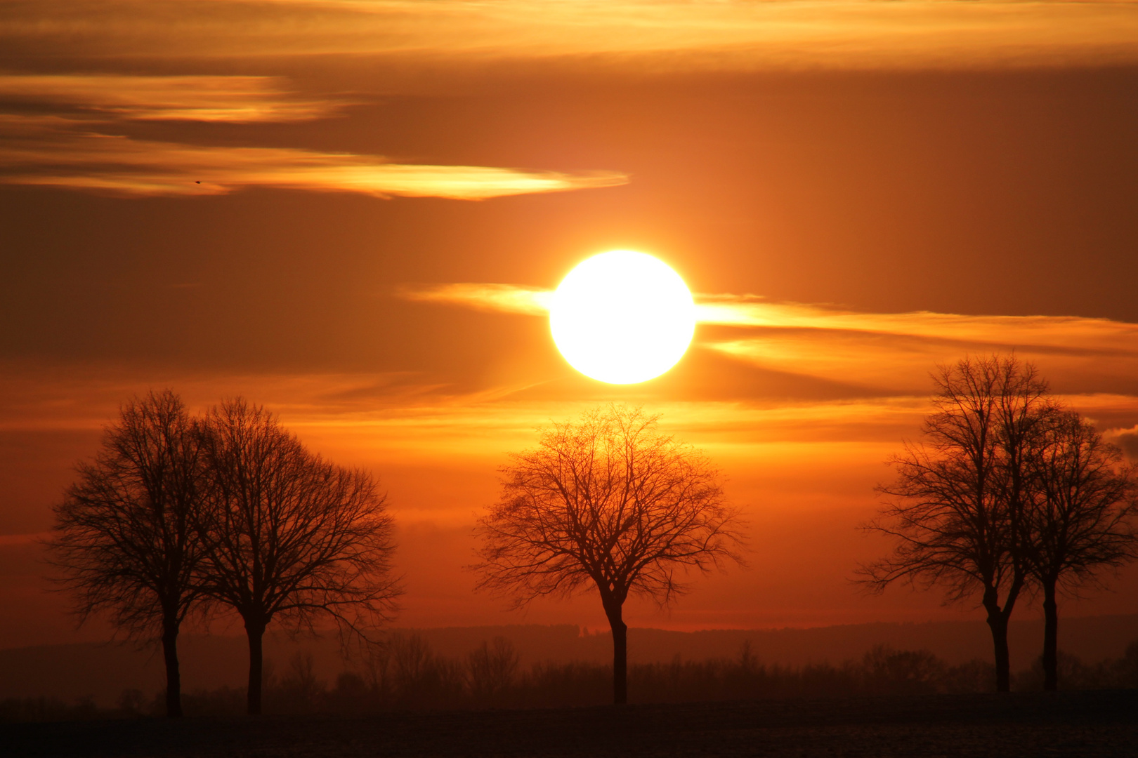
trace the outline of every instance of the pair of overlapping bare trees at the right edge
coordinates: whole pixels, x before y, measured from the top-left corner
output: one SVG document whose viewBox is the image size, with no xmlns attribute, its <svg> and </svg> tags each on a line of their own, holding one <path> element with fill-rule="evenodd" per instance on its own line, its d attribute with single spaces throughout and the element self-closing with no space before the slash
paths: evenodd
<svg viewBox="0 0 1138 758">
<path fill-rule="evenodd" d="M 1138 555 L 1135 469 L 1094 425 L 1015 356 L 963 359 L 934 376 L 921 442 L 891 463 L 887 501 L 866 528 L 893 553 L 861 567 L 876 591 L 894 582 L 976 598 L 987 614 L 996 683 L 1011 689 L 1007 628 L 1017 600 L 1042 595 L 1042 684 L 1059 686 L 1061 591 L 1100 581 Z"/>
</svg>

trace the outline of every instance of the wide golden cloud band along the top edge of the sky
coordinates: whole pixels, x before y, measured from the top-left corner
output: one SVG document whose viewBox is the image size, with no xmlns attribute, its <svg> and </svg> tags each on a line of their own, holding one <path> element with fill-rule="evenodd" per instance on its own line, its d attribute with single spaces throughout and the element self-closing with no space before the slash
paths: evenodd
<svg viewBox="0 0 1138 758">
<path fill-rule="evenodd" d="M 601 56 L 671 69 L 1138 60 L 1129 2 L 69 0 L 18 3 L 0 20 L 0 44 L 33 57 Z"/>
</svg>

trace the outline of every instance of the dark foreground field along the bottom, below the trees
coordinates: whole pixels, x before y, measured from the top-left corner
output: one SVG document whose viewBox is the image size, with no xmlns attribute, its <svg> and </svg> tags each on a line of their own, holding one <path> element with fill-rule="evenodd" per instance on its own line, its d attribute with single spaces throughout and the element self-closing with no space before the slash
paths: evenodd
<svg viewBox="0 0 1138 758">
<path fill-rule="evenodd" d="M 1138 691 L 0 725 L 0 756 L 1138 756 Z"/>
</svg>

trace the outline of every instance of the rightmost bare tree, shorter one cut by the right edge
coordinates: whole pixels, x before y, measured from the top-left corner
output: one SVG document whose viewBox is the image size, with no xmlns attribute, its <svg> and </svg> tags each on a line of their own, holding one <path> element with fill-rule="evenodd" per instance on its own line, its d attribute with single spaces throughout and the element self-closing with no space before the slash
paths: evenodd
<svg viewBox="0 0 1138 758">
<path fill-rule="evenodd" d="M 1077 590 L 1105 567 L 1131 560 L 1136 514 L 1131 469 L 1122 452 L 1103 441 L 1079 414 L 1064 413 L 1049 426 L 1031 458 L 1037 494 L 1023 526 L 1028 565 L 1044 591 L 1044 689 L 1058 689 L 1061 586 Z"/>
</svg>

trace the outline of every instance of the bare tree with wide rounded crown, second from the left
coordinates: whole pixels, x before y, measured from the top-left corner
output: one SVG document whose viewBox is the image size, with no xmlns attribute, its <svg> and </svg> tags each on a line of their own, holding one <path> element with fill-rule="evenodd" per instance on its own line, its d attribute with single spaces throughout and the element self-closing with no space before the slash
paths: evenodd
<svg viewBox="0 0 1138 758">
<path fill-rule="evenodd" d="M 401 593 L 391 518 L 369 474 L 311 453 L 263 408 L 222 403 L 203 440 L 203 588 L 245 623 L 248 710 L 259 714 L 262 638 L 274 618 L 311 631 L 324 617 L 364 636 L 390 617 Z"/>
</svg>

